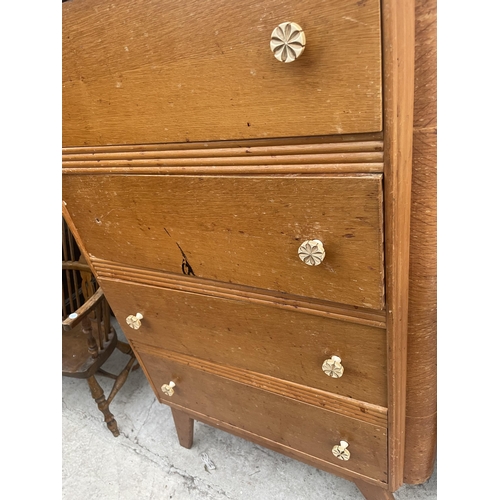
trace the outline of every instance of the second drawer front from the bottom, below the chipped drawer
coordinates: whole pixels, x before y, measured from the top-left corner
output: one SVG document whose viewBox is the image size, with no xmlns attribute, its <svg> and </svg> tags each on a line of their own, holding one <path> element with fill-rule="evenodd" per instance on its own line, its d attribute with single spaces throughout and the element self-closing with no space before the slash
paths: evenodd
<svg viewBox="0 0 500 500">
<path fill-rule="evenodd" d="M 194 293 L 101 280 L 129 339 L 387 406 L 385 330 Z M 141 327 L 125 318 L 140 312 Z M 322 370 L 342 359 L 341 378 Z"/>
</svg>

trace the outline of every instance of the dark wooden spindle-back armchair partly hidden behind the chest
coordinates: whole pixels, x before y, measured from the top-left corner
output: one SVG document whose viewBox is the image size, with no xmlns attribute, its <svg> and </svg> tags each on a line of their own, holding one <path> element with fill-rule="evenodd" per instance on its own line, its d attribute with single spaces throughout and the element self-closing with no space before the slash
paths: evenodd
<svg viewBox="0 0 500 500">
<path fill-rule="evenodd" d="M 62 293 L 62 374 L 85 378 L 108 429 L 119 436 L 109 405 L 132 369 L 138 368 L 132 348 L 118 340 L 110 322 L 110 308 L 90 267 L 82 262 L 73 235 L 63 219 L 63 293 Z M 101 367 L 117 348 L 130 356 L 126 366 L 114 375 Z M 115 380 L 106 398 L 95 375 Z"/>
</svg>

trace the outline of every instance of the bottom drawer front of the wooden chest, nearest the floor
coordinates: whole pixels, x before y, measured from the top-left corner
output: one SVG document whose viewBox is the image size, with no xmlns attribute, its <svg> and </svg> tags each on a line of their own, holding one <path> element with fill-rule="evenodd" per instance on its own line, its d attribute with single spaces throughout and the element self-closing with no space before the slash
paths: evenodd
<svg viewBox="0 0 500 500">
<path fill-rule="evenodd" d="M 160 354 L 160 353 L 159 353 Z M 271 394 L 138 350 L 157 397 L 254 433 L 289 448 L 380 481 L 387 481 L 387 433 L 382 426 Z M 172 397 L 161 391 L 174 381 Z M 331 452 L 340 440 L 351 458 Z"/>
</svg>

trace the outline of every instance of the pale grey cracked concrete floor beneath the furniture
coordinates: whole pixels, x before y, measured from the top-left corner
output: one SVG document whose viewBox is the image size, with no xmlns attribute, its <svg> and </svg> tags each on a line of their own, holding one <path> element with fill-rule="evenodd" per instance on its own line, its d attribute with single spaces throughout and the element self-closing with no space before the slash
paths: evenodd
<svg viewBox="0 0 500 500">
<path fill-rule="evenodd" d="M 126 359 L 116 351 L 104 368 L 116 371 Z M 108 394 L 112 380 L 99 380 Z M 350 481 L 199 422 L 193 447 L 182 448 L 170 409 L 158 403 L 140 369 L 130 374 L 111 405 L 121 432 L 117 438 L 85 380 L 63 377 L 62 384 L 64 500 L 363 499 Z M 202 453 L 215 470 L 206 468 Z M 435 500 L 436 487 L 434 471 L 425 484 L 404 485 L 394 496 Z"/>
</svg>

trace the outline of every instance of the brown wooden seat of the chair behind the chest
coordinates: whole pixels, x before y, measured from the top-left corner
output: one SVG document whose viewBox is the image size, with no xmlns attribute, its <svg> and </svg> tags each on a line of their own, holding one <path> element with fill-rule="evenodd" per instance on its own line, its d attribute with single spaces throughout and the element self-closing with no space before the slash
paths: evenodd
<svg viewBox="0 0 500 500">
<path fill-rule="evenodd" d="M 88 378 L 104 364 L 111 356 L 117 344 L 117 336 L 113 327 L 110 328 L 109 340 L 97 358 L 89 353 L 87 335 L 78 324 L 70 331 L 62 332 L 62 374 L 65 377 Z"/>
</svg>

